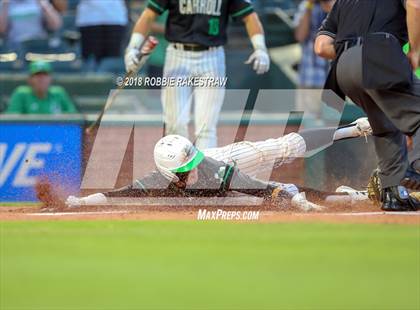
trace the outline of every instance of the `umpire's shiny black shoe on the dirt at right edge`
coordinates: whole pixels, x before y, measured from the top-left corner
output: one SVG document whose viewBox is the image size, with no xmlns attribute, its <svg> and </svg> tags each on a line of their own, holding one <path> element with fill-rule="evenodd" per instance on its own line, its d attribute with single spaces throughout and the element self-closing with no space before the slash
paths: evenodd
<svg viewBox="0 0 420 310">
<path fill-rule="evenodd" d="M 392 186 L 382 191 L 382 208 L 383 211 L 418 211 L 420 210 L 420 202 L 410 197 L 404 186 Z"/>
</svg>

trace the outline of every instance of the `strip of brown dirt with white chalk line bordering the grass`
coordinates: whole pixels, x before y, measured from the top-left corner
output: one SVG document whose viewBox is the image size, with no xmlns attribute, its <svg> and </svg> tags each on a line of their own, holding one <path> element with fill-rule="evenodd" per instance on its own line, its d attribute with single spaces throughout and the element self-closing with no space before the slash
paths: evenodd
<svg viewBox="0 0 420 310">
<path fill-rule="evenodd" d="M 298 212 L 270 207 L 218 206 L 97 206 L 78 209 L 46 210 L 40 207 L 2 207 L 0 221 L 75 221 L 75 220 L 198 220 L 199 210 L 208 212 L 259 211 L 258 219 L 241 222 L 328 222 L 328 223 L 392 223 L 420 225 L 420 212 L 381 212 L 374 206 L 332 208 L 323 212 Z M 224 221 L 219 217 L 209 221 Z M 233 220 L 236 221 L 236 220 Z"/>
</svg>

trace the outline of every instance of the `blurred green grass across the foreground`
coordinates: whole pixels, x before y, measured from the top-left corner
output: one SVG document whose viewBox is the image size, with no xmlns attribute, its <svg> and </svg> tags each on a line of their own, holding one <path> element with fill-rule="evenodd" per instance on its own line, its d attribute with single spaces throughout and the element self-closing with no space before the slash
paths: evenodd
<svg viewBox="0 0 420 310">
<path fill-rule="evenodd" d="M 419 309 L 420 227 L 3 222 L 0 309 Z"/>
</svg>

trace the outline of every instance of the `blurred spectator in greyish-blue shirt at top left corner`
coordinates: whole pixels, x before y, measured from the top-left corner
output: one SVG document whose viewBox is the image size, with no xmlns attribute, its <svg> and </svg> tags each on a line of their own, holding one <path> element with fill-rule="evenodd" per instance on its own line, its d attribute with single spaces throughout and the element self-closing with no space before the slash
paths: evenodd
<svg viewBox="0 0 420 310">
<path fill-rule="evenodd" d="M 26 40 L 46 39 L 48 31 L 62 25 L 57 10 L 48 0 L 2 0 L 0 5 L 0 34 L 6 44 L 19 48 Z"/>
</svg>

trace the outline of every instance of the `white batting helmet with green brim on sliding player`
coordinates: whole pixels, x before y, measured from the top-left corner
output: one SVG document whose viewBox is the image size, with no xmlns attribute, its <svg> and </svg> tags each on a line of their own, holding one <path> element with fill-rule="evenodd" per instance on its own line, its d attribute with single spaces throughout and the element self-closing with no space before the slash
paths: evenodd
<svg viewBox="0 0 420 310">
<path fill-rule="evenodd" d="M 177 182 L 176 173 L 193 170 L 203 161 L 204 154 L 187 138 L 168 135 L 156 143 L 154 159 L 160 173 L 168 180 Z"/>
</svg>

